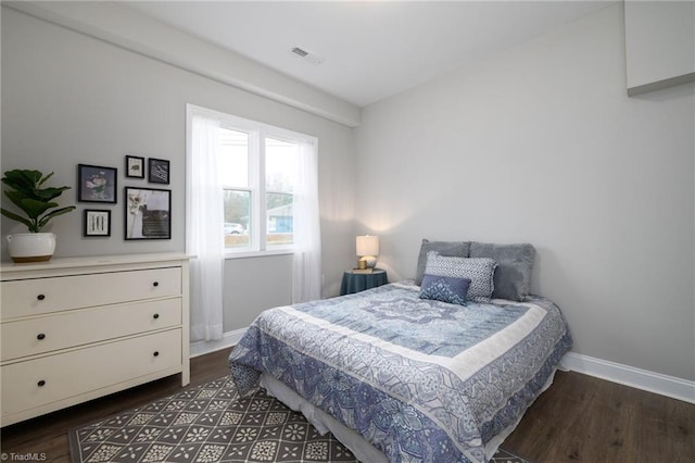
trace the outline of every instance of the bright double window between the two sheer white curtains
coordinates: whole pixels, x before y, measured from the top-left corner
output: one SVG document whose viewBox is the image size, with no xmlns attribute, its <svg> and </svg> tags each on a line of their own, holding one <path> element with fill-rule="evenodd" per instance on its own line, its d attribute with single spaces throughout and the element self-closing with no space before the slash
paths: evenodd
<svg viewBox="0 0 695 463">
<path fill-rule="evenodd" d="M 302 152 L 307 147 L 314 152 L 316 140 L 241 117 L 208 113 L 218 121 L 214 142 L 218 145 L 215 155 L 225 252 L 293 250 Z M 311 158 L 315 163 L 315 155 Z"/>
</svg>

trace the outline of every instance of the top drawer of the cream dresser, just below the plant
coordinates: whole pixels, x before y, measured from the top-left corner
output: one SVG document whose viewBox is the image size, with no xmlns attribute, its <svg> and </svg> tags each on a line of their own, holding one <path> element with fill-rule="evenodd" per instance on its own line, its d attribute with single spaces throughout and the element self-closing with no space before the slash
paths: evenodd
<svg viewBox="0 0 695 463">
<path fill-rule="evenodd" d="M 2 281 L 2 320 L 181 295 L 181 268 Z"/>
</svg>

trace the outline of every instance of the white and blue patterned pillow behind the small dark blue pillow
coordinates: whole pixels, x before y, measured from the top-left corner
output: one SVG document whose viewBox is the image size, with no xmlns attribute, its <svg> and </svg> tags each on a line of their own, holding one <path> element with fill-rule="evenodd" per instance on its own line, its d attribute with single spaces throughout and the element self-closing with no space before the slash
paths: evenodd
<svg viewBox="0 0 695 463">
<path fill-rule="evenodd" d="M 492 259 L 450 258 L 437 251 L 427 253 L 425 273 L 452 278 L 468 278 L 468 300 L 488 302 L 494 290 L 497 263 Z"/>
</svg>

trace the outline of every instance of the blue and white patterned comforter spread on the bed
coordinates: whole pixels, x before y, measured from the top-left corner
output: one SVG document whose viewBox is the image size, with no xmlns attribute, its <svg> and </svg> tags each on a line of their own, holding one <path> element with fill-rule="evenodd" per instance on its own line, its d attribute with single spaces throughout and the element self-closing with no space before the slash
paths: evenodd
<svg viewBox="0 0 695 463">
<path fill-rule="evenodd" d="M 391 462 L 483 462 L 571 336 L 547 299 L 467 306 L 391 284 L 263 312 L 229 362 L 242 395 L 261 372 L 364 436 Z"/>
</svg>

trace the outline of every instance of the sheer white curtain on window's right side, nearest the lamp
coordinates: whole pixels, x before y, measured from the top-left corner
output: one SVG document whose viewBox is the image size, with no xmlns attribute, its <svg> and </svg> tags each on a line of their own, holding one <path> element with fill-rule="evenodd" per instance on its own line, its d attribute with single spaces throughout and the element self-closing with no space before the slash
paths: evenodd
<svg viewBox="0 0 695 463">
<path fill-rule="evenodd" d="M 300 142 L 294 188 L 292 302 L 321 297 L 321 234 L 318 218 L 316 142 Z"/>
</svg>

